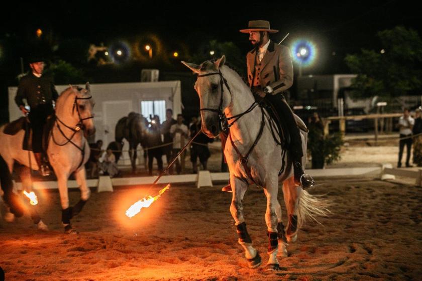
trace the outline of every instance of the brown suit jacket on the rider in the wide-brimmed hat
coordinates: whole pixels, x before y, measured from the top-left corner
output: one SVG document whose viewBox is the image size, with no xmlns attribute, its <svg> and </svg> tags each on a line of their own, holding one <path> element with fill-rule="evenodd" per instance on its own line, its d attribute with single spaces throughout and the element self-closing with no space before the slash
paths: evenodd
<svg viewBox="0 0 422 281">
<path fill-rule="evenodd" d="M 270 41 L 267 52 L 261 62 L 258 62 L 257 51 L 254 49 L 246 56 L 248 66 L 248 81 L 252 86 L 255 63 L 261 64 L 255 71 L 255 79 L 259 75 L 262 87 L 270 86 L 273 89 L 272 95 L 281 93 L 293 84 L 293 64 L 290 49 Z"/>
</svg>

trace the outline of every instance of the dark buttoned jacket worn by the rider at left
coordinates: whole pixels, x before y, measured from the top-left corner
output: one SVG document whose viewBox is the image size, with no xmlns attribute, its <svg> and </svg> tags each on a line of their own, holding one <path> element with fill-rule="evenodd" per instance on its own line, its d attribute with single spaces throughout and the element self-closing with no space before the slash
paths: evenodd
<svg viewBox="0 0 422 281">
<path fill-rule="evenodd" d="M 23 100 L 26 99 L 32 111 L 40 104 L 52 104 L 58 97 L 51 77 L 42 75 L 38 78 L 31 72 L 19 82 L 15 102 L 18 106 L 25 105 Z"/>
</svg>

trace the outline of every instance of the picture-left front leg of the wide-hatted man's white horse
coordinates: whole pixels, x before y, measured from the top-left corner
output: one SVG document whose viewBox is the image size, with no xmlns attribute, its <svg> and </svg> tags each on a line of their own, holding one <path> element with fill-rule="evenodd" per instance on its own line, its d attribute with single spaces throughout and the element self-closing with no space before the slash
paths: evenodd
<svg viewBox="0 0 422 281">
<path fill-rule="evenodd" d="M 233 190 L 232 204 L 230 212 L 235 219 L 236 231 L 239 235 L 239 244 L 245 249 L 245 257 L 248 259 L 250 268 L 255 268 L 261 264 L 261 257 L 258 251 L 252 246 L 252 239 L 246 229 L 245 218 L 243 216 L 243 196 L 248 188 L 248 184 L 232 175 L 230 182 Z"/>
</svg>

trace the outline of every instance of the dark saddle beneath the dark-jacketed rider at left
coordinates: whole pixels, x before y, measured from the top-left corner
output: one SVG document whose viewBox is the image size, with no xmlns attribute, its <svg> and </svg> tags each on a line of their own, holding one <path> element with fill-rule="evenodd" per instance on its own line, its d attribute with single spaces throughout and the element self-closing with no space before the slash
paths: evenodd
<svg viewBox="0 0 422 281">
<path fill-rule="evenodd" d="M 56 121 L 55 115 L 50 115 L 47 117 L 47 122 L 44 125 L 43 129 L 43 137 L 42 137 L 42 145 L 43 151 L 47 151 L 48 149 L 48 139 L 50 135 L 50 131 L 54 126 L 54 122 Z M 21 130 L 25 131 L 24 141 L 22 143 L 22 149 L 27 151 L 32 151 L 32 129 L 31 123 L 27 117 L 20 117 L 19 119 L 10 122 L 5 126 L 3 132 L 9 135 L 15 135 Z"/>
</svg>

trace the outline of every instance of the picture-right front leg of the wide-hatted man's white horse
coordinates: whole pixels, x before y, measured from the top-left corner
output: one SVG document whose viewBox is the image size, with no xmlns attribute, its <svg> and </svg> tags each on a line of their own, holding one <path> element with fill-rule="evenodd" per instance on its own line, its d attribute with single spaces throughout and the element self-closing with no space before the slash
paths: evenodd
<svg viewBox="0 0 422 281">
<path fill-rule="evenodd" d="M 278 270 L 280 264 L 277 260 L 278 252 L 278 239 L 279 239 L 279 216 L 277 212 L 280 212 L 281 208 L 277 200 L 278 195 L 278 176 L 269 177 L 264 188 L 265 196 L 267 197 L 267 211 L 265 212 L 265 222 L 267 223 L 267 233 L 269 238 L 268 244 L 268 255 L 269 259 L 267 262 L 267 269 Z M 282 224 L 281 224 L 282 225 Z M 284 229 L 282 233 L 284 233 Z"/>
</svg>

